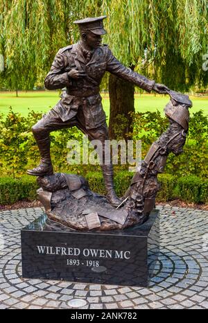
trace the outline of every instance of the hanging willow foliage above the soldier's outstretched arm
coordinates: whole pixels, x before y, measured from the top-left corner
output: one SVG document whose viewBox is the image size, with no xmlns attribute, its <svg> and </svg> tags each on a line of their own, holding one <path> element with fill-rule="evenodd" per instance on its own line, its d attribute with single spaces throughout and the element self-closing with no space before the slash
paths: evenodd
<svg viewBox="0 0 208 323">
<path fill-rule="evenodd" d="M 207 1 L 103 2 L 107 42 L 121 62 L 171 89 L 207 85 Z"/>
</svg>

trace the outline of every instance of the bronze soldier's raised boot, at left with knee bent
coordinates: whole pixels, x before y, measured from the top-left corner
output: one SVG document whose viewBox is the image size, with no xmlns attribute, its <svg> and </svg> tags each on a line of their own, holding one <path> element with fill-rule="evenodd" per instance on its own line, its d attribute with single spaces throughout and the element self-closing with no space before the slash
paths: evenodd
<svg viewBox="0 0 208 323">
<path fill-rule="evenodd" d="M 33 169 L 28 169 L 28 175 L 44 176 L 53 174 L 53 166 L 50 155 L 50 138 L 37 139 L 37 146 L 40 150 L 40 165 Z"/>
</svg>

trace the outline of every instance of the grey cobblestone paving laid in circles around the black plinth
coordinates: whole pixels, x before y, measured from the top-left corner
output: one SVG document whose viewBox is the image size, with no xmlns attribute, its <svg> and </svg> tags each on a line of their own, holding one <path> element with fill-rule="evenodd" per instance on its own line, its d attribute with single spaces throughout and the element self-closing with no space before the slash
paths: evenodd
<svg viewBox="0 0 208 323">
<path fill-rule="evenodd" d="M 208 212 L 158 207 L 160 254 L 149 288 L 21 278 L 20 229 L 42 209 L 0 212 L 0 308 L 208 308 Z"/>
</svg>

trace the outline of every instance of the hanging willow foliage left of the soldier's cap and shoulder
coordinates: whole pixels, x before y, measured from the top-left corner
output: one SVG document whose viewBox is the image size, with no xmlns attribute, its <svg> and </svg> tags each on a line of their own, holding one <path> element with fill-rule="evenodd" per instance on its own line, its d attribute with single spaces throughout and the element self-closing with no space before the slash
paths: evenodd
<svg viewBox="0 0 208 323">
<path fill-rule="evenodd" d="M 33 89 L 43 82 L 60 47 L 69 42 L 71 1 L 3 0 L 0 52 L 9 89 Z"/>
</svg>

